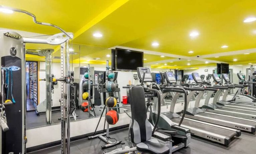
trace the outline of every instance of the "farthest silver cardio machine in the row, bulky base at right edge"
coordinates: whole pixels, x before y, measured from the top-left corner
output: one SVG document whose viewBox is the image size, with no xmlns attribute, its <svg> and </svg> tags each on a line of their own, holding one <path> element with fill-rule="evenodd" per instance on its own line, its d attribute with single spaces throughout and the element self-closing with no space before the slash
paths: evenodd
<svg viewBox="0 0 256 154">
<path fill-rule="evenodd" d="M 222 78 L 225 81 L 225 84 L 231 84 L 231 85 L 235 86 L 236 88 L 238 88 L 236 94 L 230 94 L 230 95 L 232 95 L 232 99 L 230 100 L 230 102 L 244 104 L 244 105 L 250 105 L 250 106 L 256 106 L 254 97 L 252 97 L 250 95 L 241 95 L 241 90 L 245 89 L 245 87 L 248 87 L 249 85 L 231 83 L 230 79 L 228 77 L 228 74 L 222 74 Z"/>
</svg>

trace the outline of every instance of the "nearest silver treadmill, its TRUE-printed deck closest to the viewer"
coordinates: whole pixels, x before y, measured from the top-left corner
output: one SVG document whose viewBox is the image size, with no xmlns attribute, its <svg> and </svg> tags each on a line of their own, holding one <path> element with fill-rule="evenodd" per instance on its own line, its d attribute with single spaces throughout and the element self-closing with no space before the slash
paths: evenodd
<svg viewBox="0 0 256 154">
<path fill-rule="evenodd" d="M 170 72 L 167 72 L 170 73 Z M 169 75 L 168 75 L 169 76 Z M 176 82 L 175 77 L 171 75 L 172 77 L 170 80 L 173 80 Z M 172 87 L 160 87 L 162 88 L 162 95 L 164 95 L 166 92 L 169 93 L 168 88 Z M 193 91 L 198 91 L 199 88 L 189 88 Z M 172 100 L 172 104 L 170 107 L 169 112 L 162 112 L 162 114 L 169 118 L 174 124 L 178 125 L 181 120 L 181 115 L 174 112 L 175 105 L 177 103 L 176 99 L 179 98 L 181 95 L 180 92 L 176 92 L 174 99 Z M 164 101 L 164 99 L 161 97 L 161 100 Z M 154 107 L 155 110 L 155 107 Z M 193 135 L 202 137 L 220 144 L 229 145 L 231 142 L 231 139 L 235 136 L 240 136 L 241 131 L 233 128 L 228 128 L 208 122 L 203 122 L 200 120 L 190 119 L 190 118 L 184 118 L 183 122 L 181 124 L 182 127 L 190 129 L 190 132 L 193 133 Z M 163 127 L 163 126 L 162 126 Z"/>
</svg>

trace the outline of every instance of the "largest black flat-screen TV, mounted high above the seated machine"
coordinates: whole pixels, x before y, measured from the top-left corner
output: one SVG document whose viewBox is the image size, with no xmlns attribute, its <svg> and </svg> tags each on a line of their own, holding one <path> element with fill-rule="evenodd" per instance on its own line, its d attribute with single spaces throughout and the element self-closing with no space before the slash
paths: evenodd
<svg viewBox="0 0 256 154">
<path fill-rule="evenodd" d="M 143 67 L 143 52 L 115 48 L 116 70 L 137 70 Z"/>
</svg>

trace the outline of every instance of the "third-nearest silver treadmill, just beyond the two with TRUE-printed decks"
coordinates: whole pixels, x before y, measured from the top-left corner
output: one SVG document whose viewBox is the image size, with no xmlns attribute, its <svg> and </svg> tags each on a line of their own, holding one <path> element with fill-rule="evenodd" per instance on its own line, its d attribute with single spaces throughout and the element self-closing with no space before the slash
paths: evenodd
<svg viewBox="0 0 256 154">
<path fill-rule="evenodd" d="M 220 78 L 219 78 L 218 74 L 213 73 L 212 77 L 215 82 L 217 82 L 217 83 L 220 82 Z M 218 91 L 216 92 L 216 94 L 213 98 L 213 103 L 209 104 L 210 97 L 206 97 L 205 104 L 202 106 L 202 109 L 204 109 L 205 111 L 209 111 L 209 112 L 226 114 L 226 115 L 255 120 L 256 112 L 254 111 L 254 109 L 252 109 L 253 106 L 251 106 L 249 108 L 247 106 L 245 107 L 242 104 L 241 105 L 240 104 L 231 104 L 230 102 L 227 102 L 227 101 L 219 101 L 220 94 L 223 93 L 223 90 L 227 90 L 228 87 L 232 87 L 232 86 L 216 85 L 214 87 L 218 88 Z M 224 93 L 224 95 L 225 95 L 225 93 Z M 224 95 L 223 95 L 223 97 L 225 97 Z"/>
</svg>

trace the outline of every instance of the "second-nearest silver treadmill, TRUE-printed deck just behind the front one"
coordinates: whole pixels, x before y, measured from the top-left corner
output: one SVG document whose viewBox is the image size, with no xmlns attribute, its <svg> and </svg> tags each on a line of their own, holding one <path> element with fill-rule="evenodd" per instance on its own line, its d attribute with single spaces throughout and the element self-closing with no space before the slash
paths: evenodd
<svg viewBox="0 0 256 154">
<path fill-rule="evenodd" d="M 165 72 L 165 76 L 168 76 L 166 80 L 171 84 L 175 82 L 175 78 L 171 78 L 173 76 L 172 72 Z M 218 89 L 213 89 L 210 86 L 207 85 L 201 85 L 202 87 L 199 86 L 194 86 L 193 88 L 199 88 L 199 94 L 197 95 L 196 101 L 195 101 L 195 107 L 189 108 L 189 103 L 193 95 L 197 92 L 196 90 L 193 90 L 188 94 L 187 96 L 187 110 L 185 117 L 186 118 L 191 118 L 195 120 L 200 120 L 204 122 L 209 122 L 225 127 L 230 127 L 250 133 L 255 133 L 256 132 L 256 121 L 255 120 L 249 120 L 249 119 L 244 119 L 244 118 L 238 118 L 234 116 L 228 116 L 228 115 L 223 115 L 223 114 L 216 114 L 213 112 L 207 112 L 199 108 L 200 100 L 202 99 L 202 96 L 205 94 L 205 91 L 217 91 Z M 188 88 L 189 89 L 189 88 Z M 199 90 L 198 89 L 198 90 Z M 209 95 L 209 93 L 207 94 Z M 211 95 L 211 94 L 210 94 Z M 175 96 L 177 97 L 177 95 Z M 176 100 L 176 98 L 173 98 Z M 183 113 L 183 111 L 181 111 Z"/>
</svg>

